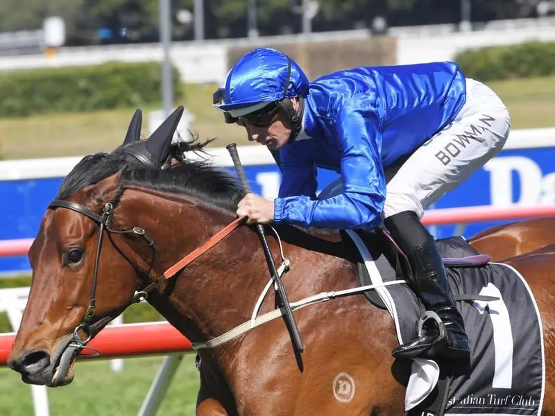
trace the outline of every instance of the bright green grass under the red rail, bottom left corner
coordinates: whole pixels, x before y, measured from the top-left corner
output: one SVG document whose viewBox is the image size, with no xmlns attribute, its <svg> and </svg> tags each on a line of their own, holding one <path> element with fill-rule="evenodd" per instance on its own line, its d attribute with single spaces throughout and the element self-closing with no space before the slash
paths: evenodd
<svg viewBox="0 0 555 416">
<path fill-rule="evenodd" d="M 50 414 L 135 416 L 160 363 L 162 357 L 130 358 L 122 372 L 112 372 L 109 361 L 80 361 L 73 383 L 48 389 Z M 185 354 L 158 415 L 194 415 L 197 392 L 194 354 Z M 31 387 L 6 368 L 0 369 L 0 415 L 33 415 Z"/>
</svg>

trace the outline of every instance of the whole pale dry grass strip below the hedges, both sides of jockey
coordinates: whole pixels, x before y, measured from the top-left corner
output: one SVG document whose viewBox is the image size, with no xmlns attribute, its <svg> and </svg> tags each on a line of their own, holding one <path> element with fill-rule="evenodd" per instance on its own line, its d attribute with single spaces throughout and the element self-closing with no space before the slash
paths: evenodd
<svg viewBox="0 0 555 416">
<path fill-rule="evenodd" d="M 511 113 L 512 128 L 553 127 L 555 76 L 488 83 Z M 201 138 L 218 137 L 210 146 L 225 146 L 234 141 L 248 144 L 244 129 L 223 123 L 212 108 L 216 85 L 185 85 L 182 103 L 195 116 L 192 130 Z M 145 107 L 143 133 L 147 134 L 146 116 L 155 107 Z M 86 114 L 52 114 L 20 119 L 0 119 L 0 157 L 78 156 L 110 151 L 123 140 L 134 109 L 110 110 Z"/>
</svg>

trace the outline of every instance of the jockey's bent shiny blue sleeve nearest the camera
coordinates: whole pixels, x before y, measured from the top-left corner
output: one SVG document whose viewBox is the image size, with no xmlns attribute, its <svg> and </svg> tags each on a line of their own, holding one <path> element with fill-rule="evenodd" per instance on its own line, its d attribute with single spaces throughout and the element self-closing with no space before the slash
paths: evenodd
<svg viewBox="0 0 555 416">
<path fill-rule="evenodd" d="M 343 193 L 325 200 L 306 196 L 278 198 L 274 201 L 276 223 L 337 229 L 377 223 L 386 195 L 380 156 L 382 126 L 377 110 L 366 100 L 365 97 L 351 100 L 336 120 L 336 136 L 343 153 Z"/>
</svg>

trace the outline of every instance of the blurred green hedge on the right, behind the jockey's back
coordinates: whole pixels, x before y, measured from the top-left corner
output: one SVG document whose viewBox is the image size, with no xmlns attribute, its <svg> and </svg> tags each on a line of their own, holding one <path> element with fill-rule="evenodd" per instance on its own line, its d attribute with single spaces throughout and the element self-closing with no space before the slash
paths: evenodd
<svg viewBox="0 0 555 416">
<path fill-rule="evenodd" d="M 531 78 L 555 73 L 555 42 L 526 42 L 464 51 L 454 61 L 476 80 Z"/>
</svg>

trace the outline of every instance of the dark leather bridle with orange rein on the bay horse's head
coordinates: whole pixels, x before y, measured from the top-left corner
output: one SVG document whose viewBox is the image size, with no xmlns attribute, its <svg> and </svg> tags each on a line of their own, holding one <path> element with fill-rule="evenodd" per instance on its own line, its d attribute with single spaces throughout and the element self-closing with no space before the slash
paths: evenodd
<svg viewBox="0 0 555 416">
<path fill-rule="evenodd" d="M 148 265 L 148 272 L 146 273 L 147 276 L 150 275 L 150 272 L 152 270 L 152 266 L 154 263 L 156 246 L 154 242 L 150 238 L 148 238 L 144 228 L 133 227 L 129 229 L 117 230 L 117 229 L 112 229 L 110 227 L 110 221 L 112 220 L 112 216 L 114 215 L 115 205 L 116 205 L 115 201 L 107 202 L 104 205 L 104 208 L 101 214 L 96 214 L 96 212 L 91 211 L 87 207 L 83 207 L 83 205 L 79 205 L 76 202 L 68 202 L 65 200 L 53 200 L 49 203 L 47 207 L 47 209 L 56 209 L 56 208 L 70 209 L 71 211 L 75 211 L 78 214 L 82 214 L 87 218 L 90 218 L 97 225 L 100 226 L 99 239 L 96 243 L 96 257 L 94 259 L 94 270 L 93 270 L 93 276 L 92 276 L 92 288 L 91 288 L 91 293 L 89 297 L 89 305 L 87 306 L 87 311 L 85 312 L 83 321 L 80 324 L 78 324 L 78 326 L 73 331 L 73 346 L 76 347 L 78 350 L 85 348 L 87 343 L 89 343 L 89 341 L 92 340 L 92 338 L 94 338 L 96 333 L 98 333 L 105 326 L 105 324 L 108 324 L 108 322 L 110 322 L 110 320 L 112 320 L 115 317 L 114 315 L 110 315 L 110 316 L 101 318 L 99 320 L 94 319 L 95 318 L 94 313 L 96 311 L 96 286 L 98 284 L 98 279 L 99 279 L 99 261 L 100 261 L 100 254 L 102 249 L 104 232 L 108 232 L 109 234 L 134 234 L 136 236 L 141 237 L 142 239 L 144 239 L 144 241 L 146 241 L 148 247 L 151 248 L 152 250 L 151 261 Z M 137 288 L 130 302 L 128 302 L 127 304 L 124 304 L 118 310 L 118 315 L 119 313 L 122 313 L 123 311 L 125 311 L 130 305 L 146 300 L 148 293 L 152 291 L 156 286 L 158 286 L 158 284 L 160 284 L 160 282 L 163 279 L 169 279 L 175 276 L 178 272 L 180 272 L 180 270 L 185 268 L 185 266 L 187 266 L 189 263 L 194 261 L 201 254 L 203 254 L 204 252 L 212 248 L 214 245 L 216 245 L 216 243 L 219 243 L 219 241 L 222 241 L 234 229 L 237 229 L 240 225 L 242 225 L 244 223 L 244 220 L 245 220 L 244 217 L 237 218 L 228 226 L 221 229 L 221 231 L 214 234 L 214 236 L 212 236 L 212 238 L 206 241 L 203 245 L 200 245 L 200 247 L 196 248 L 196 250 L 187 254 L 187 256 L 183 257 L 180 261 L 178 261 L 176 264 L 171 266 L 171 268 L 166 270 L 163 275 L 161 275 L 160 277 L 157 277 L 157 279 L 155 279 L 154 281 L 151 281 L 150 283 L 146 284 L 143 288 Z M 82 340 L 79 335 L 79 331 L 81 329 L 87 335 L 87 338 L 85 340 Z M 87 347 L 87 348 L 90 348 L 90 347 Z"/>
</svg>

